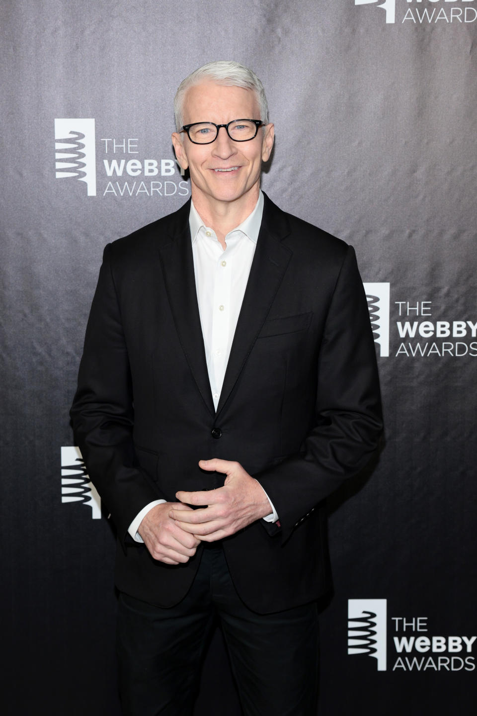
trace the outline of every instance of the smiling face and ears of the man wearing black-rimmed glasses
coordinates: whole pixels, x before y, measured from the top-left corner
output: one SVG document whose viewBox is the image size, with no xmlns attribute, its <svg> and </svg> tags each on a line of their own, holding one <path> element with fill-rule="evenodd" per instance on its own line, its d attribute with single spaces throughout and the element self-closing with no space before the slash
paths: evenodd
<svg viewBox="0 0 477 716">
<path fill-rule="evenodd" d="M 204 82 L 187 90 L 182 112 L 185 125 L 192 122 L 222 125 L 242 119 L 260 119 L 251 89 Z M 270 157 L 273 145 L 272 124 L 267 125 L 265 132 L 260 127 L 255 139 L 247 142 L 234 142 L 224 127 L 212 144 L 193 144 L 187 132 L 174 132 L 172 142 L 180 166 L 190 170 L 194 203 L 257 200 L 260 167 Z"/>
</svg>

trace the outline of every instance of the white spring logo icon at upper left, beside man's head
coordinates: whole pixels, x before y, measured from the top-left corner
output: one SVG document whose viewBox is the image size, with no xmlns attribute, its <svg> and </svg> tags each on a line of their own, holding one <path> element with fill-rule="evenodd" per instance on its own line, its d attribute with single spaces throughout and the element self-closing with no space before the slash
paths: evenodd
<svg viewBox="0 0 477 716">
<path fill-rule="evenodd" d="M 56 178 L 75 178 L 96 196 L 96 144 L 94 120 L 54 120 Z"/>
</svg>

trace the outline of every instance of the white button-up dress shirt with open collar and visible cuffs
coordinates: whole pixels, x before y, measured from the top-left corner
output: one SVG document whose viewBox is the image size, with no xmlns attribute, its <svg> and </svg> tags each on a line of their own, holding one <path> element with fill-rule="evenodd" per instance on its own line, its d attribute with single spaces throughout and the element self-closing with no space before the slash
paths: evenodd
<svg viewBox="0 0 477 716">
<path fill-rule="evenodd" d="M 207 371 L 215 410 L 220 398 L 230 348 L 247 287 L 258 233 L 262 223 L 263 194 L 252 213 L 240 226 L 225 236 L 222 248 L 215 231 L 200 218 L 194 204 L 190 205 L 189 226 L 194 258 L 195 287 L 199 304 L 200 325 L 204 338 Z M 263 489 L 263 488 L 262 488 Z M 265 490 L 263 490 L 265 492 Z M 267 495 L 267 493 L 265 493 Z M 267 499 L 270 502 L 270 498 Z M 129 534 L 142 542 L 137 533 L 145 515 L 155 505 L 166 500 L 154 500 L 147 504 L 129 526 Z M 267 522 L 276 522 L 278 515 L 270 502 L 272 512 L 264 517 Z"/>
</svg>

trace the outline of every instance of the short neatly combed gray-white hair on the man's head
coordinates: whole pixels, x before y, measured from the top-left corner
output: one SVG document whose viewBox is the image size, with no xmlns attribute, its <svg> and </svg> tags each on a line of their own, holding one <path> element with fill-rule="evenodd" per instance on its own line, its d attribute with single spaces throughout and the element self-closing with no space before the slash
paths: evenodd
<svg viewBox="0 0 477 716">
<path fill-rule="evenodd" d="M 217 62 L 207 62 L 202 67 L 196 69 L 182 80 L 174 97 L 174 115 L 177 132 L 182 130 L 182 105 L 187 89 L 194 84 L 200 84 L 207 80 L 212 80 L 216 84 L 224 84 L 226 87 L 244 87 L 252 89 L 257 97 L 258 106 L 260 108 L 260 120 L 268 124 L 268 105 L 267 97 L 265 97 L 265 89 L 262 82 L 258 79 L 255 72 L 238 62 L 230 62 L 227 60 L 218 60 Z M 237 117 L 237 119 L 255 119 L 255 117 Z"/>
</svg>

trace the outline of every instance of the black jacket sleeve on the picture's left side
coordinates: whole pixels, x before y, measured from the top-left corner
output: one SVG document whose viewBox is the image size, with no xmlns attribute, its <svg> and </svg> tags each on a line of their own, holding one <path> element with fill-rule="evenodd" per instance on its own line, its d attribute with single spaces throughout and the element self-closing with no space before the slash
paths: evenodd
<svg viewBox="0 0 477 716">
<path fill-rule="evenodd" d="M 111 254 L 108 244 L 70 416 L 89 477 L 111 512 L 119 537 L 132 542 L 127 534 L 132 520 L 163 495 L 134 458 L 132 382 Z"/>
</svg>

